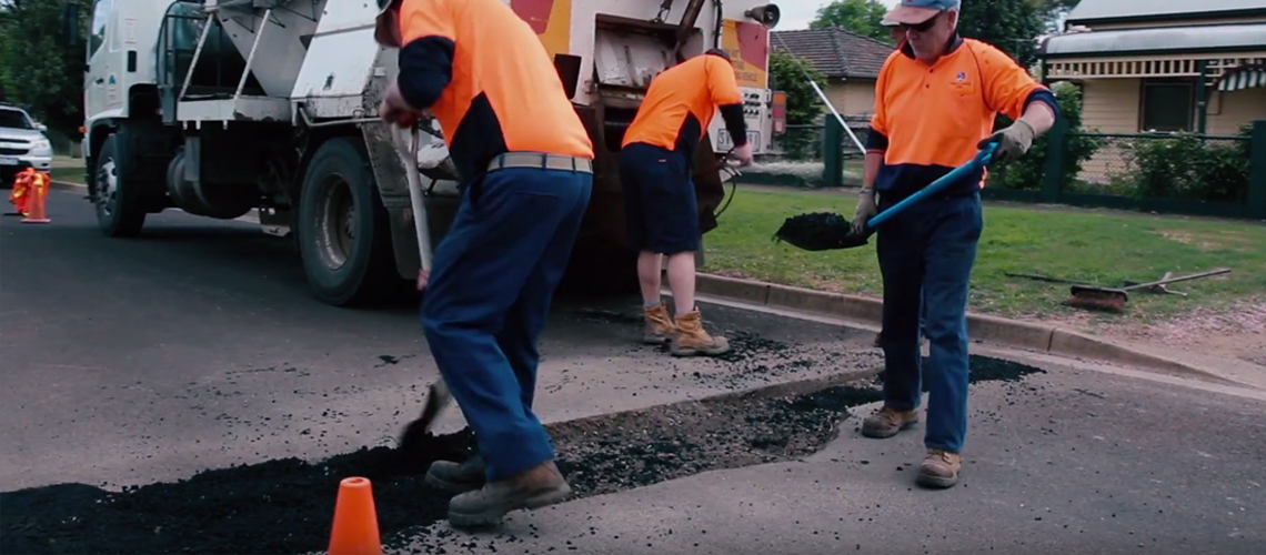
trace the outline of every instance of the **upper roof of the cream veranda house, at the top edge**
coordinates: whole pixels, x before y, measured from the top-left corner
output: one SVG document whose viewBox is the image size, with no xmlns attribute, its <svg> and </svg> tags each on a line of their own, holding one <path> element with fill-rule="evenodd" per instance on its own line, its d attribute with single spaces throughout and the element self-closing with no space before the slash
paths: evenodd
<svg viewBox="0 0 1266 555">
<path fill-rule="evenodd" d="M 1069 24 L 1142 19 L 1208 19 L 1237 13 L 1266 13 L 1262 0 L 1081 0 Z"/>
</svg>

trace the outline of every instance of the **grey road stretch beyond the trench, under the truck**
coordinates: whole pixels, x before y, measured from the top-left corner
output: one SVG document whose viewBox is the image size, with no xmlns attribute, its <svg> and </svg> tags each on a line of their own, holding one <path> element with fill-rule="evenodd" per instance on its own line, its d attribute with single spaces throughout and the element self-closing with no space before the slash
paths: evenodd
<svg viewBox="0 0 1266 555">
<path fill-rule="evenodd" d="M 322 305 L 292 243 L 256 225 L 168 211 L 124 240 L 97 233 L 82 195 L 52 191 L 47 211 L 48 225 L 0 219 L 0 406 L 9 415 L 0 491 L 142 484 L 387 445 L 438 375 L 414 302 Z M 538 416 L 641 408 L 879 363 L 848 346 L 868 332 L 722 307 L 705 308 L 705 319 L 732 335 L 794 339 L 801 359 L 827 363 L 674 359 L 638 344 L 639 310 L 636 298 L 557 300 L 541 348 Z M 456 431 L 463 420 L 449 410 L 437 424 Z"/>
</svg>

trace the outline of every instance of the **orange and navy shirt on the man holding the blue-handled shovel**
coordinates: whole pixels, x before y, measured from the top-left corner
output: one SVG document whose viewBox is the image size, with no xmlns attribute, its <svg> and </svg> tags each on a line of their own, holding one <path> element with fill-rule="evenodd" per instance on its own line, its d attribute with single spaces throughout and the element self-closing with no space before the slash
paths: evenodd
<svg viewBox="0 0 1266 555">
<path fill-rule="evenodd" d="M 884 154 L 875 188 L 900 200 L 931 185 L 976 156 L 998 113 L 1019 119 L 1032 102 L 1060 114 L 1055 95 L 998 48 L 955 37 L 950 52 L 928 66 L 903 44 L 875 83 L 866 140 L 867 152 Z M 984 186 L 982 168 L 946 193 L 970 195 Z"/>
</svg>

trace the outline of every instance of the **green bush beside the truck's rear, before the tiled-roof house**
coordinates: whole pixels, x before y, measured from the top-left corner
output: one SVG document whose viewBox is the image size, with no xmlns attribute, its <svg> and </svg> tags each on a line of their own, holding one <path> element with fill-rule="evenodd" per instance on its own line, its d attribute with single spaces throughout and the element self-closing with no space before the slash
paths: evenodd
<svg viewBox="0 0 1266 555">
<path fill-rule="evenodd" d="M 787 52 L 770 53 L 770 88 L 786 94 L 786 123 L 787 125 L 810 125 L 818 123 L 822 115 L 822 102 L 813 85 L 809 85 L 809 76 L 819 87 L 827 87 L 827 76 L 813 67 L 808 59 L 796 57 Z M 817 133 L 803 133 L 800 129 L 789 129 L 780 140 L 782 149 L 791 158 L 803 158 L 806 153 L 817 148 Z"/>
</svg>

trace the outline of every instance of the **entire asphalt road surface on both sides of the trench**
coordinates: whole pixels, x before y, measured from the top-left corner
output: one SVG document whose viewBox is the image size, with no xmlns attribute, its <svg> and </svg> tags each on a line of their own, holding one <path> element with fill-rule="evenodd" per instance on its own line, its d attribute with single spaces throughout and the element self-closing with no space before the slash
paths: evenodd
<svg viewBox="0 0 1266 555">
<path fill-rule="evenodd" d="M 320 305 L 292 244 L 249 224 L 170 212 L 151 216 L 139 239 L 106 239 L 81 195 L 63 191 L 49 195 L 48 216 L 49 225 L 0 221 L 0 544 L 322 549 L 328 480 L 338 477 L 330 467 L 281 472 L 277 459 L 320 464 L 392 445 L 437 375 L 415 305 Z M 1266 545 L 1260 391 L 1051 358 L 980 359 L 963 482 L 924 492 L 913 487 L 922 426 L 886 441 L 856 434 L 872 389 L 825 405 L 663 408 L 881 364 L 866 331 L 704 310 L 737 339 L 736 357 L 677 360 L 638 345 L 636 298 L 557 300 L 542 344 L 542 418 L 644 411 L 590 435 L 556 435 L 592 494 L 467 536 L 436 522 L 443 499 L 433 492 L 385 477 L 375 492 L 390 550 L 1236 554 Z M 461 427 L 451 410 L 439 431 Z M 348 456 L 367 468 L 372 453 L 382 450 Z M 251 497 L 287 479 L 298 497 Z M 144 484 L 158 485 L 115 493 Z M 109 496 L 130 501 L 101 501 L 124 498 Z M 228 507 L 275 508 L 276 518 L 243 523 L 220 515 Z"/>
</svg>

